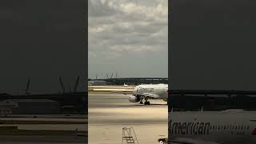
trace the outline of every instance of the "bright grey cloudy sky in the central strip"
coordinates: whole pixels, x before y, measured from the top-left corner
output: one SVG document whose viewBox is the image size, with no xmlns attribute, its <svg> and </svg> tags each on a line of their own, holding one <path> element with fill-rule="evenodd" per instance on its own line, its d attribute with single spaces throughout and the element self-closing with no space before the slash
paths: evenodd
<svg viewBox="0 0 256 144">
<path fill-rule="evenodd" d="M 89 0 L 89 78 L 168 76 L 167 0 Z"/>
</svg>

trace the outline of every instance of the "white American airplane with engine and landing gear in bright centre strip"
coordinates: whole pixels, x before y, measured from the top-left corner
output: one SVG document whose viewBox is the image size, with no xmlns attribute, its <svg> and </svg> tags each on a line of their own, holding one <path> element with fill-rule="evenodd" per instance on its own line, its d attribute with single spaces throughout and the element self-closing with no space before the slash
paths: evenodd
<svg viewBox="0 0 256 144">
<path fill-rule="evenodd" d="M 132 94 L 129 95 L 129 102 L 139 102 L 143 104 L 143 99 L 145 100 L 145 105 L 150 105 L 148 99 L 162 99 L 167 102 L 167 93 L 167 84 L 138 85 L 134 87 Z"/>
</svg>

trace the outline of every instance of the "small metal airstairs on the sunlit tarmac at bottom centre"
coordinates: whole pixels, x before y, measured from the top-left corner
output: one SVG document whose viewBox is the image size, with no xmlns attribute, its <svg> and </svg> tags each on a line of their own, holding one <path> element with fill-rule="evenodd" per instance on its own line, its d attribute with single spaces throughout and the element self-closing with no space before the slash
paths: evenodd
<svg viewBox="0 0 256 144">
<path fill-rule="evenodd" d="M 138 139 L 133 127 L 122 128 L 122 144 L 138 144 Z"/>
</svg>

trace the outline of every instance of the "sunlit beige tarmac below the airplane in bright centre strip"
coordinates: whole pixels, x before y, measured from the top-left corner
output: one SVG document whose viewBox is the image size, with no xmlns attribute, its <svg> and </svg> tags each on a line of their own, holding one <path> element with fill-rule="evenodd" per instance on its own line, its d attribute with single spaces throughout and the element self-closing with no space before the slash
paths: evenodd
<svg viewBox="0 0 256 144">
<path fill-rule="evenodd" d="M 125 94 L 89 94 L 90 144 L 121 144 L 122 128 L 133 127 L 138 143 L 158 143 L 168 134 L 168 106 L 150 100 L 150 106 L 132 103 Z"/>
</svg>

